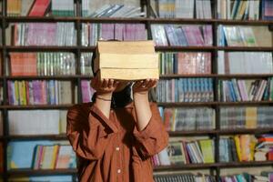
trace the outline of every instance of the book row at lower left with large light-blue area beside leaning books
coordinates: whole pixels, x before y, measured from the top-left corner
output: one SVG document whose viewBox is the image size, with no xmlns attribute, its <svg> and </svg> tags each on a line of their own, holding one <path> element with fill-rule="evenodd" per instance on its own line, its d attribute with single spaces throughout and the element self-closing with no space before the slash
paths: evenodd
<svg viewBox="0 0 273 182">
<path fill-rule="evenodd" d="M 17 168 L 76 168 L 76 154 L 68 141 L 12 141 L 7 146 L 7 169 Z"/>
</svg>

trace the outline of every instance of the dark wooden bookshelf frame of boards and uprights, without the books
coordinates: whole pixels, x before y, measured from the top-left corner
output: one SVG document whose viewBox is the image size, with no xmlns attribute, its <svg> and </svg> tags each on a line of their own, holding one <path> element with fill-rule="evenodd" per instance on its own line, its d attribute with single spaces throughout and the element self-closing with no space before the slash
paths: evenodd
<svg viewBox="0 0 273 182">
<path fill-rule="evenodd" d="M 3 76 L 0 76 L 0 82 L 3 83 L 4 87 L 4 103 L 0 106 L 0 110 L 3 113 L 4 119 L 4 136 L 0 136 L 0 142 L 4 145 L 4 172 L 0 173 L 0 177 L 4 181 L 8 180 L 8 177 L 26 177 L 26 176 L 43 176 L 43 175 L 75 175 L 76 169 L 58 169 L 58 170 L 31 170 L 31 169 L 16 169 L 16 170 L 7 170 L 6 165 L 6 147 L 10 141 L 29 141 L 29 140 L 66 140 L 65 135 L 29 135 L 29 136 L 10 136 L 8 134 L 8 111 L 10 110 L 34 110 L 34 109 L 67 109 L 73 104 L 81 103 L 82 92 L 80 89 L 81 80 L 90 79 L 90 76 L 80 75 L 80 68 L 76 67 L 76 75 L 73 76 L 8 76 L 7 70 L 5 70 L 7 63 L 7 56 L 9 53 L 13 52 L 71 52 L 76 55 L 76 65 L 80 65 L 80 55 L 81 53 L 93 52 L 95 51 L 95 46 L 88 45 L 83 46 L 81 44 L 81 25 L 83 23 L 141 23 L 145 24 L 147 27 L 147 36 L 148 39 L 152 39 L 151 25 L 153 24 L 172 24 L 172 25 L 212 25 L 213 30 L 213 44 L 206 46 L 156 46 L 156 51 L 159 52 L 209 52 L 211 53 L 211 66 L 212 74 L 199 74 L 199 75 L 176 75 L 176 74 L 167 74 L 160 76 L 160 79 L 169 79 L 169 78 L 199 78 L 199 77 L 209 77 L 213 78 L 214 82 L 214 101 L 213 102 L 177 102 L 177 103 L 157 103 L 158 106 L 163 107 L 197 107 L 197 106 L 208 106 L 216 110 L 216 128 L 211 130 L 194 130 L 194 131 L 170 131 L 169 136 L 209 136 L 210 138 L 215 139 L 215 158 L 216 162 L 212 164 L 187 164 L 187 165 L 176 165 L 176 166 L 162 166 L 155 167 L 155 172 L 171 172 L 171 171 L 181 171 L 181 170 L 192 170 L 192 169 L 208 169 L 211 174 L 213 174 L 217 181 L 220 177 L 220 171 L 222 168 L 239 168 L 239 167 L 272 167 L 272 161 L 251 161 L 251 162 L 228 162 L 221 163 L 219 162 L 219 138 L 220 136 L 227 135 L 236 135 L 236 134 L 266 134 L 272 133 L 273 128 L 257 128 L 257 129 L 221 129 L 220 128 L 220 116 L 219 109 L 221 106 L 272 106 L 272 101 L 242 101 L 242 102 L 222 102 L 219 101 L 219 96 L 217 93 L 218 85 L 217 82 L 220 79 L 230 79 L 230 78 L 246 78 L 246 79 L 260 79 L 272 77 L 273 74 L 230 74 L 230 75 L 218 75 L 217 74 L 217 52 L 222 51 L 257 51 L 257 52 L 272 52 L 273 48 L 268 46 L 219 46 L 217 45 L 217 27 L 218 25 L 263 25 L 268 26 L 272 30 L 273 21 L 269 20 L 224 20 L 217 19 L 217 0 L 211 0 L 212 7 L 212 17 L 211 19 L 192 19 L 192 18 L 152 18 L 150 12 L 150 0 L 141 0 L 141 7 L 147 7 L 147 17 L 143 18 L 87 18 L 80 15 L 81 0 L 75 0 L 76 2 L 76 16 L 74 17 L 28 17 L 28 16 L 7 16 L 6 15 L 6 4 L 7 0 L 2 0 L 2 12 L 3 15 L 0 15 L 1 27 L 7 28 L 8 25 L 13 23 L 56 23 L 56 22 L 69 22 L 74 23 L 76 27 L 76 45 L 72 46 L 45 46 L 45 45 L 8 45 L 5 41 L 6 32 L 2 31 L 2 45 L 0 45 L 0 52 L 2 55 L 2 73 Z M 4 28 L 4 29 L 5 29 Z M 73 104 L 66 105 L 33 105 L 33 106 L 9 106 L 8 105 L 8 93 L 7 93 L 7 81 L 9 80 L 68 80 L 73 82 L 73 86 L 77 86 L 77 95 L 73 90 L 73 94 L 76 96 Z"/>
</svg>

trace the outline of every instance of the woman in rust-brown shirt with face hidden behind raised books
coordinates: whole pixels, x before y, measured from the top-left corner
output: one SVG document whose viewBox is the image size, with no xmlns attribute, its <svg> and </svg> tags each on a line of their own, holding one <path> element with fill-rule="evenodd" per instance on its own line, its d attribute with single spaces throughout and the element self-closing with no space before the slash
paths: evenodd
<svg viewBox="0 0 273 182">
<path fill-rule="evenodd" d="M 83 182 L 151 182 L 151 157 L 167 147 L 168 136 L 148 90 L 157 80 L 127 82 L 95 76 L 94 104 L 67 113 L 67 137 L 78 157 Z"/>
</svg>

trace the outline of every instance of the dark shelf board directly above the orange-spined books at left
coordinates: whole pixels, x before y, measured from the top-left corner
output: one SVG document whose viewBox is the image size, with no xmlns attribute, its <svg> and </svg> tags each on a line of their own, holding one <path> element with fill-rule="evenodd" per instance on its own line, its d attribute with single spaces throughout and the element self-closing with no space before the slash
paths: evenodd
<svg viewBox="0 0 273 182">
<path fill-rule="evenodd" d="M 56 46 L 56 45 L 6 45 L 6 50 L 9 52 L 43 52 L 43 51 L 52 51 L 52 52 L 76 52 L 78 46 Z"/>
</svg>

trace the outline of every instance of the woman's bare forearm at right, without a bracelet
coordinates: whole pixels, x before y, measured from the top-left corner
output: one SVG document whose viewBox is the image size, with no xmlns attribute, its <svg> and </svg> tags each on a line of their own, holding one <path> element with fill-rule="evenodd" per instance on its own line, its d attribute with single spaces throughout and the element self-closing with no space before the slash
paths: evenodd
<svg viewBox="0 0 273 182">
<path fill-rule="evenodd" d="M 137 128 L 139 131 L 143 130 L 152 116 L 151 108 L 148 101 L 148 93 L 135 93 L 134 103 L 136 107 Z"/>
</svg>

